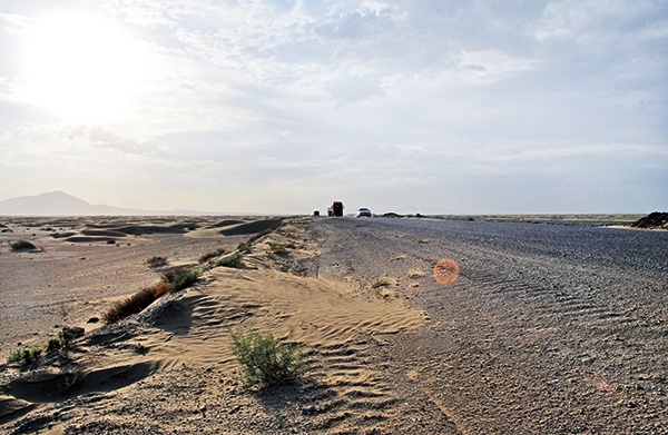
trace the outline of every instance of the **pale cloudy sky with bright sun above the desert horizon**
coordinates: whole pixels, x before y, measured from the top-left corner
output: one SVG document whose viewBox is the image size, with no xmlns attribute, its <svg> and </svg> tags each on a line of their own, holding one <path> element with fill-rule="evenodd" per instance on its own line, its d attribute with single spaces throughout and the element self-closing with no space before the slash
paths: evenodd
<svg viewBox="0 0 668 435">
<path fill-rule="evenodd" d="M 668 0 L 3 0 L 0 199 L 668 209 Z"/>
</svg>

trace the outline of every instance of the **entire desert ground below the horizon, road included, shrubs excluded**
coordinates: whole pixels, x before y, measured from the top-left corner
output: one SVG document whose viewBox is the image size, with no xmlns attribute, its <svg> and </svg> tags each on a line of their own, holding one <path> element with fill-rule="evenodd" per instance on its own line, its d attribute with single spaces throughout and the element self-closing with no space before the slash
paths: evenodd
<svg viewBox="0 0 668 435">
<path fill-rule="evenodd" d="M 6 218 L 0 431 L 668 433 L 668 233 L 499 220 Z M 105 324 L 177 267 L 199 280 Z M 85 329 L 69 349 L 4 363 L 66 326 Z M 304 344 L 310 369 L 245 387 L 229 334 L 250 328 Z"/>
</svg>

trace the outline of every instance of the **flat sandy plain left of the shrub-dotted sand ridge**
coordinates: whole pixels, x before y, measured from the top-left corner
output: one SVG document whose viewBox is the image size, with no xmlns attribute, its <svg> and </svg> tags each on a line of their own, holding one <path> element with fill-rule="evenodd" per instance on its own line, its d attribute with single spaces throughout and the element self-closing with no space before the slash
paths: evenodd
<svg viewBox="0 0 668 435">
<path fill-rule="evenodd" d="M 248 219 L 248 218 L 246 218 Z M 215 249 L 233 250 L 242 234 L 222 237 L 238 218 L 8 218 L 0 220 L 0 352 L 28 344 L 63 325 L 86 326 L 110 301 L 160 280 L 164 268 L 197 263 Z M 215 225 L 232 224 L 224 227 Z M 12 253 L 24 239 L 37 250 Z"/>
</svg>

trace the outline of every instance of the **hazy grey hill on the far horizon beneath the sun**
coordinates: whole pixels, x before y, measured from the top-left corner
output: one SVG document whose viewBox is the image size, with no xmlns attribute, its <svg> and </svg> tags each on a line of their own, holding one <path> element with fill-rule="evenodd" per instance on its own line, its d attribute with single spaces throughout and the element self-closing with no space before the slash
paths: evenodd
<svg viewBox="0 0 668 435">
<path fill-rule="evenodd" d="M 63 191 L 0 200 L 0 216 L 150 216 L 204 215 L 195 210 L 141 210 L 94 205 Z"/>
</svg>

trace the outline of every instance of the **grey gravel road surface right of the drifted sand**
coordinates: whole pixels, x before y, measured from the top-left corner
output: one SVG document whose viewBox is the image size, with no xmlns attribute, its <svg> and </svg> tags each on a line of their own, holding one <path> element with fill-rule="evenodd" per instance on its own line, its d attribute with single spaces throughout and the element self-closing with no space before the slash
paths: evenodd
<svg viewBox="0 0 668 435">
<path fill-rule="evenodd" d="M 305 274 L 425 309 L 387 338 L 461 433 L 668 434 L 668 233 L 529 223 L 318 219 Z M 461 270 L 436 284 L 441 258 Z M 409 374 L 409 375 L 406 375 Z"/>
</svg>

